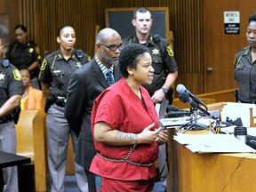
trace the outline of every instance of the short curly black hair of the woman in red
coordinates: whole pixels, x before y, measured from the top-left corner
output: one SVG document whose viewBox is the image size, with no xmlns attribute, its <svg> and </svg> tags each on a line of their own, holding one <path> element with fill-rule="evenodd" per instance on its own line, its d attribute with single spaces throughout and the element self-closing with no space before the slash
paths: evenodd
<svg viewBox="0 0 256 192">
<path fill-rule="evenodd" d="M 141 44 L 127 44 L 119 55 L 119 68 L 124 78 L 128 77 L 127 68 L 137 68 L 137 62 L 148 51 L 148 47 Z"/>
</svg>

